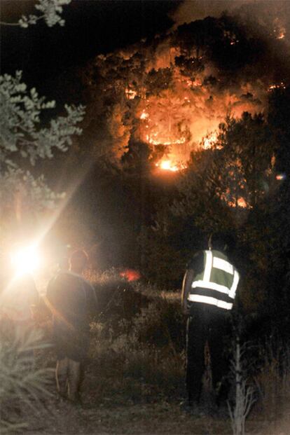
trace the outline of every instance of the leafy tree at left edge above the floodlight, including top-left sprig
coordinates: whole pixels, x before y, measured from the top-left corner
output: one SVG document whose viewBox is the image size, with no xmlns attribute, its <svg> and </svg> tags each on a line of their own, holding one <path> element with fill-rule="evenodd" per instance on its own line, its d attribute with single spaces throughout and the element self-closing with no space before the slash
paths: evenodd
<svg viewBox="0 0 290 435">
<path fill-rule="evenodd" d="M 70 0 L 39 0 L 36 9 L 42 15 L 22 17 L 15 25 L 27 27 L 44 19 L 48 26 L 64 25 L 62 5 Z M 9 25 L 9 23 L 2 23 Z M 28 89 L 22 82 L 22 72 L 15 76 L 0 76 L 0 222 L 15 224 L 29 210 L 30 216 L 47 207 L 53 207 L 60 195 L 46 185 L 43 176 L 34 177 L 32 167 L 40 158 L 52 158 L 56 150 L 67 151 L 76 127 L 83 120 L 83 106 L 65 106 L 66 115 L 50 118 L 46 113 L 55 109 L 55 102 L 47 102 L 35 88 Z M 3 231 L 1 232 L 3 235 Z"/>
</svg>

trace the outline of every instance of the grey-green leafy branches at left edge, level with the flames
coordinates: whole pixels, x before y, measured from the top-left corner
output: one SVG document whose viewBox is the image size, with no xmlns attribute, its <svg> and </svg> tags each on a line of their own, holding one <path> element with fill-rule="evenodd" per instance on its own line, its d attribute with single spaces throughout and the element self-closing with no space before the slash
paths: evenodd
<svg viewBox="0 0 290 435">
<path fill-rule="evenodd" d="M 14 153 L 29 158 L 32 165 L 37 158 L 51 158 L 53 149 L 67 151 L 72 134 L 81 134 L 76 127 L 83 119 L 83 106 L 66 105 L 67 116 L 50 120 L 49 127 L 39 128 L 41 114 L 53 109 L 55 102 L 45 102 L 35 88 L 27 90 L 21 82 L 21 71 L 15 77 L 0 76 L 1 95 L 1 166 L 13 166 Z"/>
</svg>

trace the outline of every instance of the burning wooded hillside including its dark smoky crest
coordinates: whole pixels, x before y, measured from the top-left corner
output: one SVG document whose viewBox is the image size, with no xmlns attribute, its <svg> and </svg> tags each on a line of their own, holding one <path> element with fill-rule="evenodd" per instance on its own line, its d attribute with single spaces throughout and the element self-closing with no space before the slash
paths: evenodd
<svg viewBox="0 0 290 435">
<path fill-rule="evenodd" d="M 265 78 L 261 72 L 259 43 L 228 15 L 207 18 L 154 41 L 99 55 L 84 74 L 85 83 L 91 92 L 98 90 L 96 97 L 101 95 L 107 106 L 113 141 L 113 107 L 122 107 L 119 122 L 126 141 L 120 152 L 127 152 L 127 139 L 142 140 L 151 153 L 155 146 L 165 146 L 159 167 L 162 160 L 185 167 L 191 151 L 228 114 L 240 118 L 244 111 L 254 116 L 267 109 L 269 83 L 274 77 L 277 82 L 277 74 L 273 69 Z"/>
</svg>

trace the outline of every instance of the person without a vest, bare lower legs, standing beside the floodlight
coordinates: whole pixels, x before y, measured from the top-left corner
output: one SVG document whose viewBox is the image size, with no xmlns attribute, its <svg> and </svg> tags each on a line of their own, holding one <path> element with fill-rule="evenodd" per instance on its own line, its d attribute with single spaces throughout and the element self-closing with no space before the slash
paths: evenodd
<svg viewBox="0 0 290 435">
<path fill-rule="evenodd" d="M 87 263 L 85 251 L 74 251 L 69 270 L 60 270 L 46 292 L 46 303 L 53 313 L 57 392 L 75 403 L 80 402 L 79 388 L 88 352 L 88 314 L 97 308 L 95 291 L 81 276 Z"/>
</svg>

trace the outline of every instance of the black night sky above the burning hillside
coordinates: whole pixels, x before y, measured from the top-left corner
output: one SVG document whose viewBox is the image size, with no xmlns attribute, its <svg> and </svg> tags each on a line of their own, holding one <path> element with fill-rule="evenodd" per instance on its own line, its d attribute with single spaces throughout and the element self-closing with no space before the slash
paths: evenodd
<svg viewBox="0 0 290 435">
<path fill-rule="evenodd" d="M 28 29 L 1 27 L 1 74 L 23 71 L 25 83 L 57 99 L 55 78 L 109 53 L 172 27 L 167 15 L 180 1 L 73 0 L 64 6 L 64 27 L 39 22 Z M 35 13 L 32 0 L 1 2 L 1 21 Z M 62 95 L 60 95 L 61 99 Z"/>
</svg>

